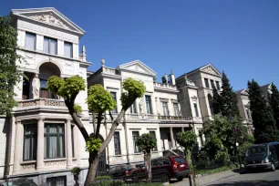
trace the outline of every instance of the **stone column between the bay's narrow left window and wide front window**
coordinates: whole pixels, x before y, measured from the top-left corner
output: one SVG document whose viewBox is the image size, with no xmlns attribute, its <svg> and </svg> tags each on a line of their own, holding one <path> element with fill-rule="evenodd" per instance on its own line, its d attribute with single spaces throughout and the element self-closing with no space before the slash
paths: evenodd
<svg viewBox="0 0 279 186">
<path fill-rule="evenodd" d="M 44 137 L 44 120 L 39 118 L 37 121 L 37 140 L 36 140 L 36 170 L 44 170 L 45 154 L 45 137 Z"/>
</svg>

